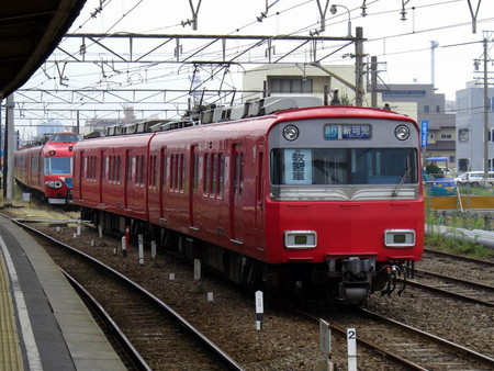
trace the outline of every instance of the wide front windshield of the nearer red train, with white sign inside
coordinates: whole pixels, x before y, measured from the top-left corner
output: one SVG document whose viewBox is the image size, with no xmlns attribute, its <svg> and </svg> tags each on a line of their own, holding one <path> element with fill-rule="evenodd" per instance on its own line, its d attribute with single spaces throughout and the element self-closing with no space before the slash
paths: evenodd
<svg viewBox="0 0 494 371">
<path fill-rule="evenodd" d="M 271 183 L 415 184 L 415 148 L 277 148 L 271 151 Z"/>
</svg>

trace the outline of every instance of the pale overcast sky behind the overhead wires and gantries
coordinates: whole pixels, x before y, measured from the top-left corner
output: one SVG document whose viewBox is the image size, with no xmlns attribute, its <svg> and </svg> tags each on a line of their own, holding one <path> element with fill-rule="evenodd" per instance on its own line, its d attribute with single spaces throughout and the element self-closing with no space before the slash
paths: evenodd
<svg viewBox="0 0 494 371">
<path fill-rule="evenodd" d="M 383 83 L 431 83 L 433 80 L 433 42 L 434 78 L 437 92 L 445 93 L 449 100 L 454 100 L 457 90 L 464 89 L 467 82 L 481 77 L 474 72 L 474 60 L 483 59 L 483 43 L 489 41 L 489 52 L 494 58 L 494 1 L 470 0 L 473 14 L 476 13 L 476 32 L 473 32 L 472 13 L 468 0 L 88 0 L 82 12 L 74 22 L 69 34 L 78 33 L 144 33 L 144 34 L 218 34 L 218 35 L 302 35 L 322 29 L 324 19 L 324 36 L 345 37 L 348 34 L 348 22 L 355 35 L 356 27 L 362 27 L 364 53 L 377 56 L 380 63 L 379 77 Z M 321 4 L 321 10 L 318 8 Z M 329 8 L 336 4 L 337 12 L 332 14 Z M 362 5 L 366 5 L 366 16 L 362 16 Z M 326 8 L 327 7 L 327 8 Z M 326 10 L 325 10 L 326 9 Z M 197 30 L 188 20 L 197 13 Z M 324 13 L 322 16 L 322 13 Z M 259 22 L 260 19 L 262 22 Z M 114 55 L 87 43 L 87 56 L 109 60 L 117 59 Z M 184 48 L 200 48 L 206 42 L 183 43 Z M 58 89 L 91 89 L 112 88 L 149 88 L 189 89 L 190 66 L 149 65 L 122 66 L 110 63 L 67 64 L 63 61 L 68 55 L 80 56 L 80 38 L 66 38 L 48 60 L 59 64 L 46 64 L 22 89 L 53 89 L 36 100 L 43 100 L 44 106 L 63 97 L 66 102 L 79 101 L 89 108 L 91 103 L 102 101 L 97 93 L 77 95 L 74 92 L 58 95 Z M 108 44 L 117 53 L 126 53 L 128 45 Z M 343 43 L 324 43 L 328 50 L 338 48 Z M 135 42 L 133 53 L 143 53 L 143 44 Z M 147 46 L 149 48 L 149 46 Z M 237 45 L 243 47 L 243 45 Z M 280 50 L 281 50 L 281 46 Z M 167 54 L 168 53 L 168 54 Z M 220 53 L 220 50 L 217 50 Z M 255 59 L 252 52 L 252 59 Z M 301 61 L 307 57 L 299 50 Z M 355 53 L 351 45 L 325 59 L 325 65 L 353 64 L 346 55 Z M 156 57 L 170 58 L 171 48 L 156 52 Z M 490 58 L 487 54 L 487 58 Z M 68 58 L 70 59 L 70 58 Z M 116 66 L 116 67 L 115 67 Z M 252 68 L 252 65 L 237 67 L 231 70 L 228 87 L 242 89 L 242 71 Z M 494 71 L 492 63 L 489 68 Z M 482 71 L 481 66 L 481 71 Z M 63 76 L 66 79 L 60 79 Z M 211 82 L 212 83 L 212 82 Z M 22 93 L 21 89 L 21 93 Z M 33 98 L 20 95 L 18 106 L 23 108 L 19 120 L 36 122 L 36 117 L 46 119 L 46 113 L 27 113 Z M 40 94 L 40 93 L 38 93 Z M 92 95 L 91 95 L 92 94 Z M 106 95 L 108 97 L 108 95 Z M 169 98 L 169 97 L 168 97 Z M 59 98 L 57 98 L 59 99 Z M 108 98 L 105 98 L 108 100 Z M 120 105 L 132 101 L 126 98 Z M 186 99 L 184 95 L 180 99 Z M 104 100 L 104 99 L 103 99 Z M 159 97 L 166 101 L 167 97 Z M 24 105 L 23 101 L 25 102 Z M 105 101 L 106 102 L 106 101 Z M 56 106 L 56 105 L 53 105 Z M 178 103 L 177 103 L 178 106 Z M 77 104 L 70 104 L 70 110 Z M 67 109 L 68 111 L 69 109 Z M 22 116 L 24 115 L 24 117 Z M 90 113 L 82 113 L 89 116 Z M 111 116 L 112 113 L 93 113 L 98 116 Z M 143 116 L 146 113 L 143 112 Z M 29 116 L 29 117 L 27 117 Z M 74 117 L 66 115 L 66 117 Z M 56 119 L 56 117 L 55 117 Z M 145 119 L 145 117 L 143 117 Z"/>
</svg>

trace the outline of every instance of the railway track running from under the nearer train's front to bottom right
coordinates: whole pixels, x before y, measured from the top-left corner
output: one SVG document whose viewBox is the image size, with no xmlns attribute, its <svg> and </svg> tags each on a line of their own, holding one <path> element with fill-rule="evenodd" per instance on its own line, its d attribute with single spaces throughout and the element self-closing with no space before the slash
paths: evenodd
<svg viewBox="0 0 494 371">
<path fill-rule="evenodd" d="M 319 322 L 319 316 L 302 313 Z M 332 330 L 346 336 L 356 328 L 357 342 L 381 355 L 393 370 L 492 370 L 494 359 L 439 336 L 368 310 L 339 313 L 323 318 Z"/>
</svg>

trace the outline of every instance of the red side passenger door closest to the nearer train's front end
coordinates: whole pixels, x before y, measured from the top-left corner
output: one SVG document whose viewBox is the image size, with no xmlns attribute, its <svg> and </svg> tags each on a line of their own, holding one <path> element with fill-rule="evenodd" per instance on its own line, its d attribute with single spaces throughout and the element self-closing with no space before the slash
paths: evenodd
<svg viewBox="0 0 494 371">
<path fill-rule="evenodd" d="M 232 240 L 243 243 L 244 223 L 243 223 L 243 187 L 244 187 L 244 146 L 236 143 L 232 151 L 232 170 L 231 170 L 231 225 Z"/>
</svg>

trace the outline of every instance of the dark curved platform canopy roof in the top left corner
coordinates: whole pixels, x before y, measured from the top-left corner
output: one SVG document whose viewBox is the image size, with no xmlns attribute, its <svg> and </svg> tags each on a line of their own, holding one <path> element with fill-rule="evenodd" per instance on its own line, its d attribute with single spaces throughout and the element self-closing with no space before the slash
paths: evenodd
<svg viewBox="0 0 494 371">
<path fill-rule="evenodd" d="M 52 54 L 86 0 L 4 0 L 0 5 L 0 99 Z"/>
</svg>

